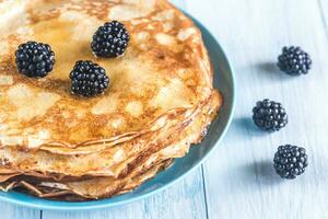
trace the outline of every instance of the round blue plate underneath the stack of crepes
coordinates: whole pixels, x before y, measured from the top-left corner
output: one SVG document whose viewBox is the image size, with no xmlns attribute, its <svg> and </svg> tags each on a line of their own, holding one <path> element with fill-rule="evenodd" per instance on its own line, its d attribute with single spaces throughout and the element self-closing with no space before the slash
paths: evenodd
<svg viewBox="0 0 328 219">
<path fill-rule="evenodd" d="M 212 123 L 208 130 L 208 135 L 200 146 L 192 147 L 186 157 L 177 159 L 173 166 L 157 174 L 153 180 L 142 184 L 138 189 L 114 198 L 84 203 L 68 203 L 46 200 L 17 192 L 1 192 L 0 200 L 25 207 L 50 210 L 86 210 L 106 208 L 134 201 L 159 193 L 173 185 L 178 180 L 181 180 L 196 169 L 219 145 L 227 130 L 234 111 L 235 89 L 233 71 L 223 49 L 202 24 L 195 19 L 194 22 L 201 30 L 204 44 L 211 57 L 214 68 L 214 87 L 218 88 L 224 96 L 224 104 L 223 107 L 220 108 L 219 117 L 216 117 L 216 119 Z"/>
</svg>

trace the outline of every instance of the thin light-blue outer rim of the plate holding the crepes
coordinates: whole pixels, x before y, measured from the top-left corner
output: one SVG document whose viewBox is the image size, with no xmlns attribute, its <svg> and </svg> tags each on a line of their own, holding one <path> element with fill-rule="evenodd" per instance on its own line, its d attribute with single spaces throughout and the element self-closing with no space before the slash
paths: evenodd
<svg viewBox="0 0 328 219">
<path fill-rule="evenodd" d="M 225 50 L 223 49 L 222 45 L 219 43 L 219 41 L 216 39 L 216 37 L 214 37 L 214 35 L 202 24 L 200 23 L 195 16 L 190 15 L 189 13 L 187 13 L 186 11 L 181 10 L 180 11 L 186 14 L 188 18 L 190 18 L 192 20 L 192 22 L 196 24 L 196 26 L 201 31 L 202 35 L 208 35 L 209 37 L 213 38 L 215 42 L 215 46 L 219 48 L 222 58 L 224 59 L 225 64 L 226 64 L 226 69 L 230 72 L 230 77 L 231 77 L 231 87 L 232 87 L 232 95 L 231 95 L 231 111 L 227 112 L 227 120 L 226 124 L 220 135 L 220 137 L 218 138 L 216 142 L 214 143 L 214 146 L 212 148 L 209 149 L 209 151 L 207 153 L 204 153 L 204 155 L 199 159 L 194 166 L 191 166 L 190 169 L 188 169 L 187 171 L 185 171 L 183 174 L 180 174 L 177 178 L 171 181 L 169 183 L 166 183 L 165 185 L 155 188 L 154 191 L 150 191 L 147 192 L 144 194 L 138 195 L 136 197 L 131 197 L 128 199 L 121 199 L 121 200 L 117 200 L 115 203 L 101 203 L 97 204 L 95 203 L 94 205 L 85 205 L 83 206 L 83 204 L 85 201 L 81 201 L 81 203 L 68 203 L 68 201 L 56 201 L 59 204 L 62 204 L 61 206 L 51 206 L 51 201 L 54 200 L 46 200 L 46 199 L 42 199 L 39 198 L 38 201 L 33 201 L 33 203 L 28 203 L 26 200 L 22 200 L 22 199 L 17 199 L 14 197 L 5 197 L 5 196 L 1 196 L 0 195 L 0 201 L 3 201 L 5 204 L 14 204 L 16 206 L 21 206 L 21 207 L 27 207 L 27 208 L 33 208 L 33 209 L 39 209 L 39 210 L 55 210 L 55 211 L 60 211 L 60 210 L 65 210 L 65 211 L 77 211 L 77 210 L 94 210 L 94 209 L 102 209 L 102 208 L 109 208 L 109 207 L 115 207 L 115 206 L 122 206 L 126 204 L 130 204 L 133 201 L 138 201 L 140 199 L 144 199 L 147 197 L 150 197 L 152 195 L 159 194 L 164 189 L 167 189 L 168 187 L 173 186 L 175 183 L 181 181 L 183 178 L 185 178 L 188 174 L 190 174 L 191 172 L 194 172 L 197 168 L 199 168 L 199 165 L 201 165 L 212 153 L 213 151 L 218 148 L 218 146 L 220 145 L 220 142 L 223 140 L 224 136 L 226 135 L 232 119 L 233 119 L 233 115 L 235 112 L 235 104 L 236 104 L 236 79 L 235 79 L 235 71 L 234 68 L 231 64 L 231 60 L 227 58 Z M 210 57 L 211 58 L 211 57 Z M 213 62 L 213 60 L 211 59 L 211 62 Z M 214 72 L 215 73 L 215 72 Z M 224 101 L 224 100 L 223 100 Z M 181 158 L 184 159 L 184 158 Z M 2 193 L 2 192 L 1 192 Z M 15 192 L 19 193 L 19 192 Z M 107 198 L 108 200 L 110 198 Z M 106 200 L 103 199 L 103 200 Z M 48 204 L 45 204 L 45 201 L 49 201 Z M 96 201 L 96 200 L 95 200 Z M 87 201 L 90 203 L 90 201 Z M 65 205 L 66 204 L 66 205 Z M 75 204 L 75 205 L 74 205 Z M 79 204 L 79 205 L 77 205 Z M 73 206 L 72 206 L 73 205 Z"/>
</svg>

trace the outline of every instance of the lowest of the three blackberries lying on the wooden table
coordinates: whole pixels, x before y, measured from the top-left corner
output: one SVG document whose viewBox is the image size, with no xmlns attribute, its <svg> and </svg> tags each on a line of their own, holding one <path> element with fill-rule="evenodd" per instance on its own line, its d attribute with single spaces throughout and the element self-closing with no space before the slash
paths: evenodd
<svg viewBox="0 0 328 219">
<path fill-rule="evenodd" d="M 280 146 L 274 154 L 273 166 L 283 178 L 295 178 L 304 173 L 307 166 L 307 155 L 304 148 L 297 146 Z"/>
</svg>

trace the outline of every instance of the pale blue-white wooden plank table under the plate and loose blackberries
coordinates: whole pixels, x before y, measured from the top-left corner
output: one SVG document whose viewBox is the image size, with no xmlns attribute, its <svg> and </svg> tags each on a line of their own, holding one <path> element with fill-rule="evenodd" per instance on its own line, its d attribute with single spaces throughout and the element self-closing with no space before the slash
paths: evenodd
<svg viewBox="0 0 328 219">
<path fill-rule="evenodd" d="M 54 212 L 0 204 L 1 219 L 328 218 L 328 0 L 177 0 L 225 48 L 235 69 L 237 104 L 229 134 L 208 161 L 165 192 L 126 206 Z M 284 45 L 314 60 L 304 77 L 274 62 Z M 250 120 L 256 101 L 283 103 L 290 123 L 263 134 Z M 303 146 L 309 166 L 294 181 L 272 169 L 279 145 Z"/>
</svg>

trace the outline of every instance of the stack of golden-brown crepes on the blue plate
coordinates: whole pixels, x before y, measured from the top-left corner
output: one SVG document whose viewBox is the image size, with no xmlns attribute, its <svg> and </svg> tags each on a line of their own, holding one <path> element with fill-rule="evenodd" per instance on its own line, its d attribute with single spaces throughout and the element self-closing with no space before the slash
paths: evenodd
<svg viewBox="0 0 328 219">
<path fill-rule="evenodd" d="M 4 0 L 0 3 L 0 188 L 85 200 L 138 187 L 198 143 L 222 97 L 195 24 L 165 0 Z M 97 58 L 93 33 L 118 20 L 122 57 Z M 48 77 L 17 72 L 26 41 L 56 54 Z M 103 66 L 103 95 L 70 94 L 77 60 Z"/>
</svg>

